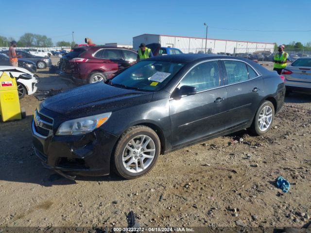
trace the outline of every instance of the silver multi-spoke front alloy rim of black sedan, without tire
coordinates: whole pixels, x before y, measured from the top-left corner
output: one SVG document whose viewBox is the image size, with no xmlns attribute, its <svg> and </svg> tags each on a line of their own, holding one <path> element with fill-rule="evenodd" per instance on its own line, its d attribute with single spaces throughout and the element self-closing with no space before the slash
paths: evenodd
<svg viewBox="0 0 311 233">
<path fill-rule="evenodd" d="M 135 136 L 126 144 L 122 153 L 122 164 L 131 173 L 145 170 L 155 158 L 155 142 L 145 134 Z"/>
</svg>

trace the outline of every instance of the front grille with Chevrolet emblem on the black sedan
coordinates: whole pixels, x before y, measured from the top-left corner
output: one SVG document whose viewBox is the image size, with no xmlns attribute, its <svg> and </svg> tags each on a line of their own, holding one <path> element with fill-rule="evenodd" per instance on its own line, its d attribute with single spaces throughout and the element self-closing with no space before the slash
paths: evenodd
<svg viewBox="0 0 311 233">
<path fill-rule="evenodd" d="M 34 116 L 34 131 L 40 137 L 47 137 L 53 129 L 53 119 L 49 116 L 44 116 L 35 110 Z"/>
</svg>

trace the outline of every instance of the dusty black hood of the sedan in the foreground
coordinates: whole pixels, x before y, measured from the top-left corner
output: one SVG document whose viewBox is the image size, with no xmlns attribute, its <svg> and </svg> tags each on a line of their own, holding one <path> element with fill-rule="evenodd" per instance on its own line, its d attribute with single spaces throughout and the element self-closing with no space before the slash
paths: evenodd
<svg viewBox="0 0 311 233">
<path fill-rule="evenodd" d="M 152 96 L 152 92 L 123 89 L 100 82 L 55 95 L 43 101 L 42 106 L 73 119 L 146 103 Z"/>
</svg>

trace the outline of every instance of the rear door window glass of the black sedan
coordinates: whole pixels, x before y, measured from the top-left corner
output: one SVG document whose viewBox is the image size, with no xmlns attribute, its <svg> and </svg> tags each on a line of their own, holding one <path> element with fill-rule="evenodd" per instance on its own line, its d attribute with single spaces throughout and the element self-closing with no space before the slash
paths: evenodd
<svg viewBox="0 0 311 233">
<path fill-rule="evenodd" d="M 228 84 L 248 80 L 246 64 L 238 61 L 224 61 Z"/>
</svg>

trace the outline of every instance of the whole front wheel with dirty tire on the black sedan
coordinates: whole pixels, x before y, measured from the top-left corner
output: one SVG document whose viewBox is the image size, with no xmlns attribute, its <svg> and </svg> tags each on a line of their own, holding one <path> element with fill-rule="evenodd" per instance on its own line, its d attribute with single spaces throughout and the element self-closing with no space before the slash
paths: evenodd
<svg viewBox="0 0 311 233">
<path fill-rule="evenodd" d="M 146 126 L 133 126 L 118 141 L 112 158 L 112 170 L 125 179 L 143 176 L 155 166 L 160 149 L 160 139 L 155 131 Z"/>
</svg>

